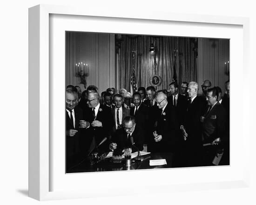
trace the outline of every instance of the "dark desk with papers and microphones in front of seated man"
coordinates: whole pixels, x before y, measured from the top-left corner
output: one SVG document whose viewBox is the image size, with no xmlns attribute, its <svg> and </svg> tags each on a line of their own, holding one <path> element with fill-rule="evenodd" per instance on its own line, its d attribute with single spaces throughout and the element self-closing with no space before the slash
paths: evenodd
<svg viewBox="0 0 256 205">
<path fill-rule="evenodd" d="M 167 162 L 167 165 L 149 166 L 149 160 L 160 160 L 160 159 L 165 159 Z M 102 160 L 92 165 L 88 158 L 88 159 L 84 159 L 82 162 L 78 163 L 76 166 L 69 169 L 67 173 L 171 168 L 173 165 L 173 154 L 172 153 L 151 153 L 151 154 L 146 154 L 141 156 L 141 160 L 142 160 L 141 162 L 135 161 L 129 167 L 127 167 L 123 163 L 113 163 L 110 160 L 110 158 Z"/>
</svg>

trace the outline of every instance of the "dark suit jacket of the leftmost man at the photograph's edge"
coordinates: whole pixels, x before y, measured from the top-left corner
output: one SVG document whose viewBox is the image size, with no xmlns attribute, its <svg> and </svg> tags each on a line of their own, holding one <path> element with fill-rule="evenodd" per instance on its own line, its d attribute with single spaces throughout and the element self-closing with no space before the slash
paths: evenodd
<svg viewBox="0 0 256 205">
<path fill-rule="evenodd" d="M 83 118 L 81 108 L 75 107 L 74 115 L 75 115 L 75 128 L 73 128 L 73 126 L 71 124 L 71 119 L 66 110 L 66 130 L 75 129 L 78 131 L 73 137 L 66 135 L 67 167 L 69 167 L 69 164 L 74 160 L 73 158 L 80 152 L 79 141 L 80 141 L 80 137 L 81 137 L 81 128 L 79 128 L 79 121 L 82 120 L 82 118 Z"/>
</svg>

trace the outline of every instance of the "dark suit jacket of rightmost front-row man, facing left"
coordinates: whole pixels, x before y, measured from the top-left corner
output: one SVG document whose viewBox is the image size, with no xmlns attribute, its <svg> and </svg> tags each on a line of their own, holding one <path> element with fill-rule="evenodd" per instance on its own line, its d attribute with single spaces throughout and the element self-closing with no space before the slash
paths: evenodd
<svg viewBox="0 0 256 205">
<path fill-rule="evenodd" d="M 226 111 L 223 106 L 217 102 L 215 106 L 205 115 L 202 123 L 203 143 L 209 143 L 217 138 L 223 140 L 226 128 Z"/>
</svg>

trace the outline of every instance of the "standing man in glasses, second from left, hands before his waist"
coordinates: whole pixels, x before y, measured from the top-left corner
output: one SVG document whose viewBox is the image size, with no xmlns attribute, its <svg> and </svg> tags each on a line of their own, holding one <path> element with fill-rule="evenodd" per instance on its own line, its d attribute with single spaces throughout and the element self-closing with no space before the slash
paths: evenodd
<svg viewBox="0 0 256 205">
<path fill-rule="evenodd" d="M 84 154 L 92 152 L 104 138 L 108 139 L 114 125 L 111 110 L 100 104 L 99 93 L 95 91 L 88 93 L 87 105 L 83 116 L 90 123 L 90 127 L 84 131 L 84 137 L 81 138 L 81 150 Z M 108 147 L 105 143 L 99 148 L 104 151 Z"/>
</svg>

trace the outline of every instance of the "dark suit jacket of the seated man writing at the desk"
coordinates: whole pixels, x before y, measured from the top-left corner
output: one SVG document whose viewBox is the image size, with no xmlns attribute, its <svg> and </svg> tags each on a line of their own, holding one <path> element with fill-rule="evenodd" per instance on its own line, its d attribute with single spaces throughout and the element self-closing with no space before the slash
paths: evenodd
<svg viewBox="0 0 256 205">
<path fill-rule="evenodd" d="M 134 132 L 131 135 L 134 140 L 134 145 L 137 147 L 140 151 L 143 150 L 143 142 L 144 142 L 144 132 L 143 130 L 135 125 Z M 118 129 L 115 133 L 115 136 L 113 137 L 113 142 L 117 144 L 117 149 L 122 150 L 125 147 L 131 147 L 133 152 L 137 151 L 135 147 L 132 146 L 130 139 L 127 137 L 127 133 L 124 131 L 124 129 Z"/>
</svg>

